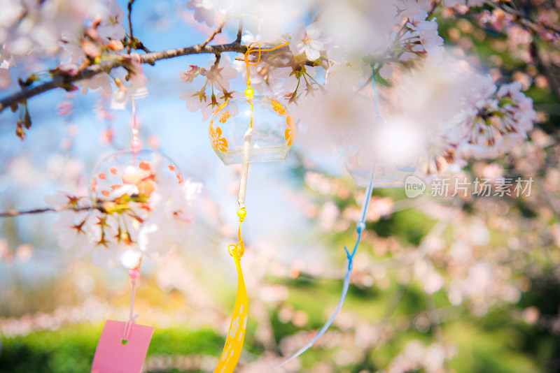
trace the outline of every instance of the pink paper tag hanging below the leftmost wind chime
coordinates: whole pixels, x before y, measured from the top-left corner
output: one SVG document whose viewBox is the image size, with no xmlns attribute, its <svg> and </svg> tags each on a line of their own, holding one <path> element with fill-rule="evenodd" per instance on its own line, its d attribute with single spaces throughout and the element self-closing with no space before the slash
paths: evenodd
<svg viewBox="0 0 560 373">
<path fill-rule="evenodd" d="M 125 325 L 123 321 L 106 321 L 93 357 L 92 373 L 140 373 L 153 328 L 132 324 L 127 343 L 123 344 Z"/>
</svg>

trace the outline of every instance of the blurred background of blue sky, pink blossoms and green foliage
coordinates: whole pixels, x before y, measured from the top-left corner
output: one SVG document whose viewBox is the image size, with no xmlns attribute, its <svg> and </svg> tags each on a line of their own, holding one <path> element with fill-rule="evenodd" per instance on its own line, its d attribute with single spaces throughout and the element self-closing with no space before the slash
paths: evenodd
<svg viewBox="0 0 560 373">
<path fill-rule="evenodd" d="M 475 56 L 472 63 L 498 80 L 521 82 L 540 119 L 512 154 L 454 176 L 533 177 L 531 196 L 409 199 L 402 188 L 374 190 L 342 312 L 286 372 L 560 371 L 558 98 L 526 58 L 523 29 L 480 27 L 449 10 L 437 17 L 452 53 Z M 193 45 L 211 31 L 182 2 L 138 1 L 134 22 L 142 25 L 135 36 L 158 49 Z M 235 31 L 219 38 L 232 40 Z M 543 47 L 558 75 L 558 50 Z M 235 299 L 226 248 L 237 241 L 240 169 L 223 166 L 208 123 L 178 98 L 179 71 L 208 59 L 144 67 L 150 94 L 137 101 L 144 145 L 204 184 L 188 240 L 142 263 L 135 311 L 139 323 L 155 326 L 146 372 L 211 372 Z M 23 142 L 13 117 L 0 116 L 0 210 L 43 207 L 57 190 L 85 195 L 97 161 L 130 142 L 130 110 L 109 112 L 99 94 L 55 91 L 32 103 Z M 356 239 L 364 198 L 342 163 L 338 154 L 309 154 L 296 144 L 285 162 L 251 164 L 241 261 L 250 310 L 239 372 L 271 371 L 336 305 L 342 247 Z M 126 270 L 97 268 L 87 255 L 59 249 L 56 219 L 0 220 L 0 372 L 87 372 L 104 321 L 127 320 Z"/>
</svg>

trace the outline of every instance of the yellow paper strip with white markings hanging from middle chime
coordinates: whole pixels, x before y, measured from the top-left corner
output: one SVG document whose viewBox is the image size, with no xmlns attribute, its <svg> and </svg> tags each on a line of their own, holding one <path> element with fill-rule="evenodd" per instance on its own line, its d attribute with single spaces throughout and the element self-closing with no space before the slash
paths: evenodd
<svg viewBox="0 0 560 373">
<path fill-rule="evenodd" d="M 230 252 L 237 268 L 237 295 L 235 295 L 235 305 L 233 307 L 228 337 L 225 339 L 223 352 L 214 373 L 233 372 L 243 348 L 245 329 L 247 327 L 248 300 L 243 272 L 241 272 L 241 263 L 239 262 L 239 253 L 237 249 L 233 249 Z"/>
</svg>

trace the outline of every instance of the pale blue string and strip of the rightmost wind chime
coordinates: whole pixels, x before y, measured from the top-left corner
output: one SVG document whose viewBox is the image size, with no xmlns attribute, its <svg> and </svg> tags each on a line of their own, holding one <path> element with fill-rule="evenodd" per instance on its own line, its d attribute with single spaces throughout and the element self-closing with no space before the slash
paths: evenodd
<svg viewBox="0 0 560 373">
<path fill-rule="evenodd" d="M 372 68 L 372 70 L 374 71 L 373 68 Z M 372 86 L 373 86 L 373 96 L 374 96 L 374 103 L 375 103 L 375 115 L 377 117 L 379 117 L 379 105 L 377 103 L 377 87 L 375 87 L 375 75 L 372 75 Z M 337 314 L 340 312 L 340 309 L 342 309 L 342 305 L 344 304 L 344 299 L 346 299 L 346 295 L 348 294 L 348 288 L 350 286 L 350 278 L 351 278 L 352 267 L 353 267 L 353 258 L 356 255 L 356 250 L 358 249 L 358 244 L 360 244 L 360 240 L 362 238 L 362 231 L 365 229 L 365 214 L 367 213 L 367 206 L 370 203 L 370 197 L 372 195 L 373 180 L 374 180 L 374 175 L 375 175 L 376 163 L 377 163 L 377 159 L 374 158 L 373 166 L 372 166 L 372 173 L 370 175 L 370 182 L 367 184 L 367 188 L 365 189 L 365 195 L 364 195 L 364 199 L 363 199 L 360 221 L 358 221 L 358 223 L 356 224 L 356 232 L 358 233 L 358 238 L 356 239 L 356 243 L 354 244 L 354 247 L 353 247 L 351 252 L 348 251 L 348 249 L 346 249 L 346 246 L 344 246 L 344 251 L 346 251 L 346 275 L 344 275 L 344 282 L 342 284 L 342 292 L 340 293 L 340 298 L 338 300 L 337 307 L 335 308 L 335 311 L 332 312 L 332 314 L 330 315 L 330 317 L 327 320 L 327 322 L 325 323 L 325 325 L 323 325 L 323 328 L 321 328 L 317 332 L 315 337 L 313 337 L 309 342 L 307 342 L 307 344 L 302 346 L 301 349 L 299 349 L 295 353 L 293 353 L 293 355 L 284 359 L 279 365 L 276 365 L 276 368 L 281 367 L 282 365 L 290 362 L 291 360 L 297 358 L 297 356 L 300 356 L 302 353 L 304 353 L 305 351 L 310 349 L 311 346 L 313 346 L 315 344 L 315 342 L 318 341 L 318 339 L 323 337 L 325 332 L 328 330 L 328 328 L 330 328 L 332 323 L 335 321 L 335 319 L 337 317 Z"/>
</svg>

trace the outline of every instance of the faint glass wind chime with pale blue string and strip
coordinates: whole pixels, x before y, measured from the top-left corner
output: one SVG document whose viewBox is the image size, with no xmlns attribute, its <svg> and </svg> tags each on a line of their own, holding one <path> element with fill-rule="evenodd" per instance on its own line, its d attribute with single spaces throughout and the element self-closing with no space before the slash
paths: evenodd
<svg viewBox="0 0 560 373">
<path fill-rule="evenodd" d="M 375 72 L 374 69 L 373 72 Z M 376 116 L 375 122 L 376 124 L 379 124 L 382 123 L 382 119 L 381 115 L 379 115 L 379 104 L 377 102 L 377 86 L 375 85 L 375 75 L 372 75 L 372 87 Z M 383 130 L 381 129 L 381 131 Z M 377 131 L 374 131 L 374 133 L 377 133 Z M 372 139 L 364 136 L 362 140 L 371 141 Z M 356 184 L 358 186 L 365 186 L 366 189 L 363 198 L 360 221 L 358 221 L 358 223 L 356 224 L 356 233 L 358 233 L 356 243 L 354 244 L 352 251 L 349 251 L 346 247 L 344 247 L 344 251 L 346 252 L 346 274 L 344 275 L 344 282 L 342 284 L 342 291 L 339 296 L 337 307 L 335 308 L 335 311 L 332 312 L 330 318 L 325 322 L 323 327 L 313 338 L 311 338 L 311 340 L 309 340 L 309 342 L 307 342 L 307 344 L 302 346 L 301 349 L 297 350 L 288 358 L 282 360 L 282 362 L 276 367 L 281 367 L 282 365 L 290 362 L 291 360 L 297 358 L 298 356 L 302 355 L 302 353 L 310 349 L 311 346 L 313 346 L 318 341 L 318 339 L 320 339 L 325 334 L 328 328 L 330 328 L 332 322 L 335 321 L 335 318 L 340 309 L 342 309 L 342 305 L 344 304 L 344 300 L 346 299 L 346 295 L 348 293 L 348 288 L 350 285 L 353 258 L 356 255 L 358 244 L 360 244 L 362 232 L 365 230 L 365 215 L 367 213 L 367 206 L 370 203 L 372 189 L 400 186 L 405 180 L 405 175 L 414 173 L 416 164 L 416 160 L 414 159 L 407 159 L 405 163 L 400 164 L 395 161 L 395 159 L 390 159 L 391 157 L 386 156 L 385 154 L 380 154 L 376 150 L 372 152 L 371 147 L 361 146 L 356 147 L 356 149 L 354 149 L 350 160 L 346 162 L 346 168 L 349 170 L 349 173 L 353 177 L 353 180 L 356 182 Z"/>
</svg>

